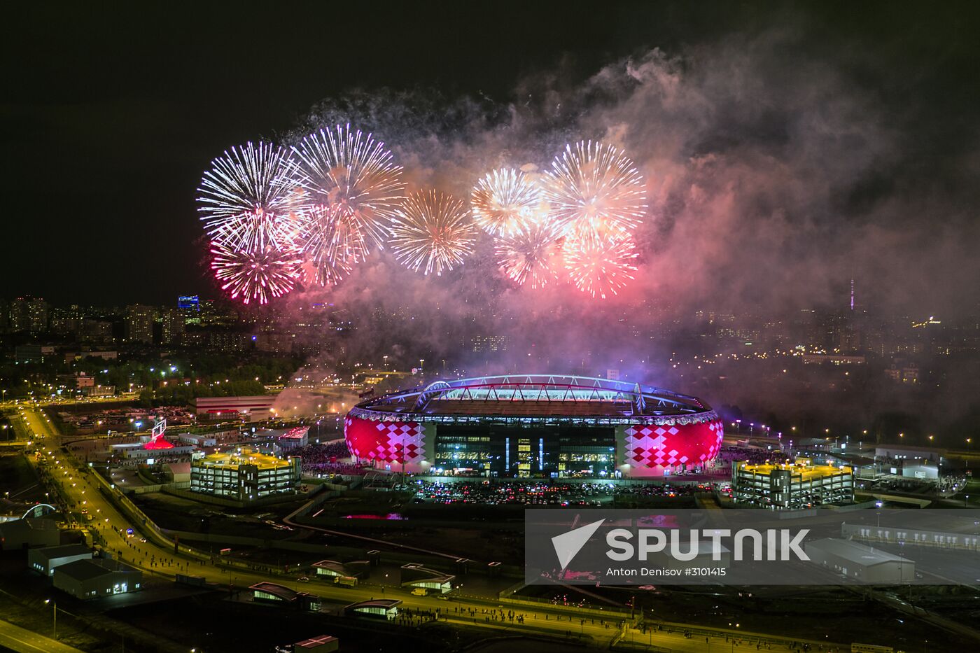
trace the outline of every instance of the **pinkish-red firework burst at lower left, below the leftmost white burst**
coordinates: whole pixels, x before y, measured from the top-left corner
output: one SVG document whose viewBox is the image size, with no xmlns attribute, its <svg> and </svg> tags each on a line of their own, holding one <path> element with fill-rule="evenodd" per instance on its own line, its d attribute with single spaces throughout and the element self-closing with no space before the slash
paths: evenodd
<svg viewBox="0 0 980 653">
<path fill-rule="evenodd" d="M 292 290 L 302 263 L 292 250 L 239 250 L 218 241 L 211 243 L 211 254 L 211 268 L 221 289 L 228 290 L 232 299 L 240 296 L 246 304 L 253 300 L 266 304 L 270 297 Z"/>
</svg>

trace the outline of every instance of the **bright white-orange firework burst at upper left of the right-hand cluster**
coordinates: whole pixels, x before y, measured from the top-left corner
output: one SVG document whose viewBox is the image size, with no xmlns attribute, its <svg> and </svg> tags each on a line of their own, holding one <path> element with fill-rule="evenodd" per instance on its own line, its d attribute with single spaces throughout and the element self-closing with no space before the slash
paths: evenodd
<svg viewBox="0 0 980 653">
<path fill-rule="evenodd" d="M 513 235 L 532 222 L 540 204 L 537 184 L 522 172 L 506 168 L 481 178 L 470 202 L 476 226 L 497 236 Z"/>
</svg>

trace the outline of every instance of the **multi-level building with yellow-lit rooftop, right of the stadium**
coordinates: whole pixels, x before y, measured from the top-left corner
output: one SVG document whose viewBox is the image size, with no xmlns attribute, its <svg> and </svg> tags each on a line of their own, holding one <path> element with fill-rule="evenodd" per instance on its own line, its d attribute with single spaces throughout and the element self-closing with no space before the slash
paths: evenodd
<svg viewBox="0 0 980 653">
<path fill-rule="evenodd" d="M 850 467 L 813 465 L 809 458 L 786 465 L 732 464 L 732 498 L 737 504 L 802 509 L 854 503 L 854 495 L 855 478 Z"/>
</svg>

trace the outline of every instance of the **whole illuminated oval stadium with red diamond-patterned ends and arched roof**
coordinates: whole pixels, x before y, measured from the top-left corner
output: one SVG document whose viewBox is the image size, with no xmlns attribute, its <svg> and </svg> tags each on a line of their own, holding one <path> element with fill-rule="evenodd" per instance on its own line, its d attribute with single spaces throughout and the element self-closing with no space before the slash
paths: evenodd
<svg viewBox="0 0 980 653">
<path fill-rule="evenodd" d="M 722 422 L 639 383 L 561 375 L 437 380 L 359 403 L 351 454 L 377 469 L 485 477 L 663 477 L 703 468 Z"/>
</svg>

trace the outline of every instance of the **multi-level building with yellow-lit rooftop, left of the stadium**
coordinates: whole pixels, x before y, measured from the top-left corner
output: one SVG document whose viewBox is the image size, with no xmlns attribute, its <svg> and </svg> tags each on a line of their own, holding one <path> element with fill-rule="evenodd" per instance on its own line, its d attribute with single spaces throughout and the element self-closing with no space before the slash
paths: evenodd
<svg viewBox="0 0 980 653">
<path fill-rule="evenodd" d="M 296 492 L 301 472 L 299 458 L 282 460 L 243 447 L 191 462 L 190 489 L 236 501 L 255 501 Z"/>
</svg>

